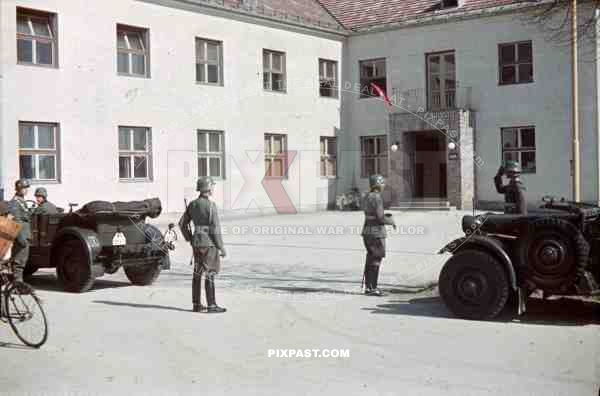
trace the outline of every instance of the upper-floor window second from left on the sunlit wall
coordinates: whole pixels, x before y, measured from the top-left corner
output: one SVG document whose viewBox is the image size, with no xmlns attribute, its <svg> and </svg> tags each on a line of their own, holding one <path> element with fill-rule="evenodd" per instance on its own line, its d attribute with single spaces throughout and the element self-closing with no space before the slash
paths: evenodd
<svg viewBox="0 0 600 396">
<path fill-rule="evenodd" d="M 117 25 L 117 71 L 126 76 L 149 76 L 148 30 Z"/>
</svg>

